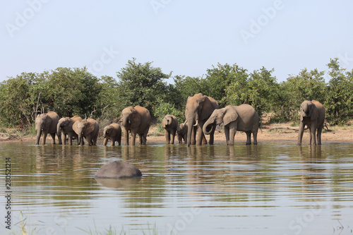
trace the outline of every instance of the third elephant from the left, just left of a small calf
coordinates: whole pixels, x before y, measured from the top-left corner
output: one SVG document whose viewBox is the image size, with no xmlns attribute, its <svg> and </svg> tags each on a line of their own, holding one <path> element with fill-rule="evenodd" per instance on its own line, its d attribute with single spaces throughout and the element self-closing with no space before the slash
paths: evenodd
<svg viewBox="0 0 353 235">
<path fill-rule="evenodd" d="M 83 119 L 73 123 L 73 131 L 78 135 L 78 143 L 83 145 L 83 138 L 86 138 L 88 145 L 95 145 L 97 143 L 100 125 L 95 119 Z"/>
</svg>

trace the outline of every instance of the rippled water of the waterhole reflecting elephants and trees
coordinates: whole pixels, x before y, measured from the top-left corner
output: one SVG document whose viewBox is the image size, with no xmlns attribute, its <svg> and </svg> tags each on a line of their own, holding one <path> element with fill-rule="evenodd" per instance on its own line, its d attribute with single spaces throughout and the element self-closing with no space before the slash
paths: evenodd
<svg viewBox="0 0 353 235">
<path fill-rule="evenodd" d="M 352 234 L 353 145 L 62 146 L 0 143 L 12 230 L 35 234 Z M 142 178 L 96 180 L 124 160 Z M 21 217 L 20 213 L 23 213 Z M 6 224 L 0 219 L 0 234 Z M 83 231 L 85 230 L 85 231 Z"/>
</svg>

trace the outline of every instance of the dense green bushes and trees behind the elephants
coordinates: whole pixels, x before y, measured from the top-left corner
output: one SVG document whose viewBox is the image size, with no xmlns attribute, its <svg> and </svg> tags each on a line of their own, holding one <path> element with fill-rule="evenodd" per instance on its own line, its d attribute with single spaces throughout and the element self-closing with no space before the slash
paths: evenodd
<svg viewBox="0 0 353 235">
<path fill-rule="evenodd" d="M 156 121 L 174 114 L 184 121 L 188 96 L 198 92 L 213 97 L 220 107 L 251 104 L 259 114 L 270 114 L 272 121 L 297 121 L 304 100 L 318 100 L 325 106 L 326 120 L 345 124 L 353 116 L 353 70 L 340 68 L 338 59 L 330 59 L 329 82 L 325 72 L 308 71 L 277 83 L 273 70 L 261 68 L 249 72 L 237 64 L 217 64 L 203 77 L 174 76 L 174 83 L 151 62 L 128 61 L 116 73 L 117 79 L 97 78 L 87 68 L 56 68 L 43 73 L 21 73 L 0 83 L 0 126 L 28 127 L 37 113 L 55 111 L 59 116 L 92 114 L 95 119 L 113 120 L 128 106 L 150 110 Z"/>
</svg>

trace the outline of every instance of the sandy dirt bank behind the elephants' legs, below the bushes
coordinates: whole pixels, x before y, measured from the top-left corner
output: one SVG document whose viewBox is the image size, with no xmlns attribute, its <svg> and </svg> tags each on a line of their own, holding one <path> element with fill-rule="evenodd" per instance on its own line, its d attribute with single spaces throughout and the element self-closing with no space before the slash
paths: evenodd
<svg viewBox="0 0 353 235">
<path fill-rule="evenodd" d="M 270 130 L 270 128 L 278 126 L 290 126 L 287 124 L 271 124 L 264 125 L 261 131 L 258 131 L 258 143 L 261 142 L 293 142 L 297 143 L 298 131 L 287 130 L 287 129 L 275 129 Z M 208 136 L 206 136 L 208 139 Z M 335 126 L 330 128 L 329 131 L 325 131 L 321 135 L 323 143 L 353 143 L 353 127 L 352 126 Z M 20 138 L 0 138 L 0 143 L 16 143 L 16 142 L 35 142 L 35 136 L 23 136 Z M 157 132 L 157 126 L 152 126 L 147 137 L 148 143 L 164 143 L 164 134 Z M 243 132 L 238 132 L 235 135 L 235 142 L 246 141 L 246 134 Z M 309 141 L 309 131 L 304 131 L 303 145 L 306 145 Z M 101 145 L 103 138 L 100 137 L 97 143 Z M 177 137 L 175 142 L 178 143 Z M 215 143 L 225 143 L 225 133 L 224 131 L 215 132 Z M 52 143 L 50 137 L 47 138 L 47 144 Z M 110 144 L 109 144 L 110 145 Z"/>
</svg>

